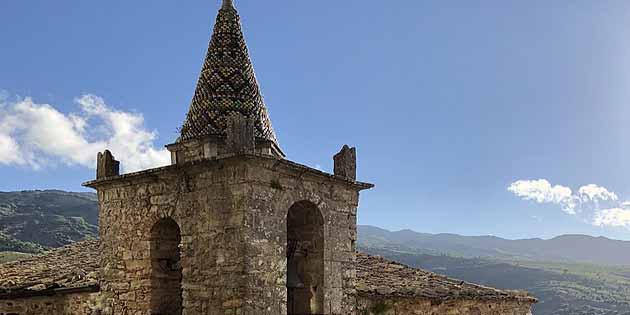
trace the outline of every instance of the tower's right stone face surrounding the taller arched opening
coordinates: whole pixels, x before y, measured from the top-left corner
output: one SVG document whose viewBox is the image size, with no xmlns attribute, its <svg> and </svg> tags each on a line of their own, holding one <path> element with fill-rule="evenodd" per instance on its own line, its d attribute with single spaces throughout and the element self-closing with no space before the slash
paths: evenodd
<svg viewBox="0 0 630 315">
<path fill-rule="evenodd" d="M 296 173 L 298 172 L 298 173 Z M 251 314 L 286 314 L 287 212 L 297 202 L 316 206 L 324 219 L 323 314 L 353 314 L 355 295 L 356 188 L 314 174 L 256 160 L 240 192 L 245 216 L 246 270 L 252 276 L 247 309 Z"/>
</svg>

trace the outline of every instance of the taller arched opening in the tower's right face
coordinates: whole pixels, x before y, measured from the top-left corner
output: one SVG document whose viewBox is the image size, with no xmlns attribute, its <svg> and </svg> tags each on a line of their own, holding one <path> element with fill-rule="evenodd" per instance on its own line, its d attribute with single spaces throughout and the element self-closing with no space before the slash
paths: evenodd
<svg viewBox="0 0 630 315">
<path fill-rule="evenodd" d="M 311 202 L 287 214 L 287 314 L 324 312 L 324 218 Z"/>
</svg>

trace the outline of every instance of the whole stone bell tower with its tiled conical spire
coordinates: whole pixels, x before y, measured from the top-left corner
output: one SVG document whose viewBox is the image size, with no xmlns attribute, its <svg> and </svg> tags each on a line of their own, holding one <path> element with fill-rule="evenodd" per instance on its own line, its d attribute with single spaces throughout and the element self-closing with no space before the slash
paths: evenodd
<svg viewBox="0 0 630 315">
<path fill-rule="evenodd" d="M 224 0 L 172 165 L 86 183 L 100 202 L 106 314 L 355 313 L 356 152 L 285 159 Z M 115 154 L 115 152 L 113 152 Z"/>
</svg>

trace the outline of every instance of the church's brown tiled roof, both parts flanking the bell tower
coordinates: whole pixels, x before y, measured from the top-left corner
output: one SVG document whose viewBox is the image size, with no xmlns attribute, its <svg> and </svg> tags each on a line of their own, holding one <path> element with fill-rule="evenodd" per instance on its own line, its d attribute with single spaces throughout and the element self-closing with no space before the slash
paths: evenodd
<svg viewBox="0 0 630 315">
<path fill-rule="evenodd" d="M 98 241 L 84 241 L 47 254 L 0 265 L 0 299 L 98 289 Z M 449 300 L 536 299 L 414 269 L 382 257 L 357 254 L 357 292 L 364 296 Z"/>
</svg>

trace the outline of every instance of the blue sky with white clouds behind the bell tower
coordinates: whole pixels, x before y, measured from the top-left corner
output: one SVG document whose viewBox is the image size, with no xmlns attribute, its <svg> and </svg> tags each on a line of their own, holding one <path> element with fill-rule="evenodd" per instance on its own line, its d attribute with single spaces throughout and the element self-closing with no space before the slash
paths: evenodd
<svg viewBox="0 0 630 315">
<path fill-rule="evenodd" d="M 2 1 L 0 190 L 83 190 L 103 145 L 160 161 L 218 2 Z M 630 239 L 630 2 L 236 5 L 288 158 L 357 146 L 359 223 Z"/>
</svg>

